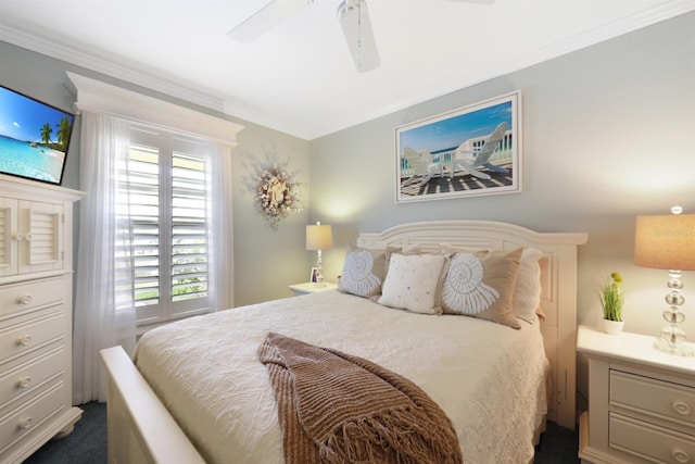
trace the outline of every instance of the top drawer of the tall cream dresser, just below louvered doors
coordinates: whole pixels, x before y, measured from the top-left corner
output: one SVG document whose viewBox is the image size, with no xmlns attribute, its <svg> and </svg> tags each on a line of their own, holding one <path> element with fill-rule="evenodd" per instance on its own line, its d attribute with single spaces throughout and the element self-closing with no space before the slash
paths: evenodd
<svg viewBox="0 0 695 464">
<path fill-rule="evenodd" d="M 0 288 L 0 319 L 62 301 L 62 277 L 4 285 Z"/>
</svg>

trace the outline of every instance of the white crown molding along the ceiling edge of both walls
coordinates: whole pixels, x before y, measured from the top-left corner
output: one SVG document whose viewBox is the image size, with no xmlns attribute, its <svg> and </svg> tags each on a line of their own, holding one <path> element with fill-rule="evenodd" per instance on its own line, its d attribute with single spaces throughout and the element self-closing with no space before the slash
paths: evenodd
<svg viewBox="0 0 695 464">
<path fill-rule="evenodd" d="M 642 13 L 594 28 L 584 34 L 557 42 L 551 47 L 545 47 L 525 55 L 517 57 L 516 59 L 509 60 L 498 66 L 480 71 L 475 75 L 458 77 L 452 76 L 450 85 L 440 86 L 437 91 L 410 93 L 406 99 L 402 99 L 382 108 L 372 109 L 369 112 L 363 113 L 361 117 L 353 117 L 349 121 L 343 120 L 340 123 L 320 123 L 320 120 L 317 120 L 318 125 L 314 127 L 296 127 L 292 122 L 279 121 L 271 114 L 260 114 L 253 109 L 244 110 L 244 105 L 236 104 L 235 99 L 231 96 L 220 96 L 213 91 L 201 91 L 200 86 L 190 81 L 185 81 L 184 79 L 177 80 L 175 76 L 169 75 L 167 79 L 163 79 L 161 75 L 156 75 L 153 71 L 150 71 L 149 73 L 147 71 L 142 71 L 142 67 L 135 63 L 129 64 L 125 62 L 104 60 L 93 52 L 90 53 L 78 50 L 74 47 L 66 47 L 58 43 L 55 40 L 49 40 L 47 38 L 27 34 L 7 25 L 0 24 L 0 40 L 134 84 L 136 86 L 161 92 L 186 102 L 198 104 L 202 108 L 223 114 L 233 115 L 235 117 L 240 117 L 255 124 L 287 131 L 288 134 L 312 140 L 317 137 L 351 127 L 352 125 L 361 124 L 365 121 L 370 121 L 410 108 L 424 101 L 462 90 L 484 80 L 558 58 L 692 11 L 695 11 L 695 3 L 693 0 L 667 0 Z"/>
</svg>

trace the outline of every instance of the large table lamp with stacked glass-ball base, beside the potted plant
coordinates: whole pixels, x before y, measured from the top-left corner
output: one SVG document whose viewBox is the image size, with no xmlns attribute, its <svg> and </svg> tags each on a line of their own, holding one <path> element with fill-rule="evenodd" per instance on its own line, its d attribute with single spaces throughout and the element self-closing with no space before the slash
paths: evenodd
<svg viewBox="0 0 695 464">
<path fill-rule="evenodd" d="M 674 206 L 670 215 L 637 216 L 635 223 L 634 263 L 637 266 L 668 269 L 669 292 L 664 311 L 668 323 L 654 342 L 654 348 L 670 354 L 692 356 L 693 347 L 684 343 L 685 331 L 679 327 L 685 315 L 679 311 L 685 298 L 681 294 L 681 271 L 695 271 L 695 214 L 681 214 Z"/>
</svg>

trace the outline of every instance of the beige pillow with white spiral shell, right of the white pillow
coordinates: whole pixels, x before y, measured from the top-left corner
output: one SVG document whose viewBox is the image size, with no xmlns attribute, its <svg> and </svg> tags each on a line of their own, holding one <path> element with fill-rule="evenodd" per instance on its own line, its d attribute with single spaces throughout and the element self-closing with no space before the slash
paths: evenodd
<svg viewBox="0 0 695 464">
<path fill-rule="evenodd" d="M 447 247 L 450 265 L 442 288 L 442 308 L 462 314 L 521 328 L 511 311 L 521 249 L 515 251 L 462 251 Z"/>
</svg>

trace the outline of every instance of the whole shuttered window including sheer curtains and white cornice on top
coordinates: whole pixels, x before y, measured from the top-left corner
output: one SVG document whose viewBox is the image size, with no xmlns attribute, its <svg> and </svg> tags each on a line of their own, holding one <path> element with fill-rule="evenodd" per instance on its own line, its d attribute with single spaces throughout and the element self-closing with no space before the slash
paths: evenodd
<svg viewBox="0 0 695 464">
<path fill-rule="evenodd" d="M 80 189 L 87 192 L 79 208 L 73 329 L 78 404 L 106 398 L 100 349 L 121 344 L 131 353 L 138 333 L 233 306 L 230 150 L 243 126 L 74 73 L 67 77 L 81 112 Z M 203 184 L 195 177 L 202 173 Z M 203 197 L 206 208 L 190 206 Z M 132 211 L 144 210 L 140 223 L 130 220 L 131 198 Z M 195 227 L 202 234 L 191 237 Z M 189 254 L 198 255 L 184 258 L 194 265 L 174 261 L 172 250 L 191 243 L 188 250 L 195 253 Z M 140 294 L 144 284 L 153 293 Z"/>
</svg>

